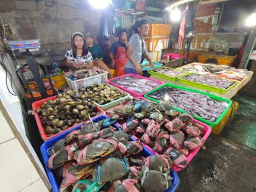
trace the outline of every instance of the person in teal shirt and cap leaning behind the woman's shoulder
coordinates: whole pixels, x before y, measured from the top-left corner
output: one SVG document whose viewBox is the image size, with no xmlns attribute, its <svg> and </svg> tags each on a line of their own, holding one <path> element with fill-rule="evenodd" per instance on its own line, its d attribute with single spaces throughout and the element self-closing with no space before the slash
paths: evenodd
<svg viewBox="0 0 256 192">
<path fill-rule="evenodd" d="M 107 77 L 112 79 L 113 77 L 110 73 L 109 67 L 107 67 L 107 65 L 103 62 L 103 53 L 101 47 L 98 44 L 93 43 L 93 35 L 91 35 L 91 33 L 85 33 L 85 42 L 93 57 L 93 65 L 109 72 Z"/>
</svg>

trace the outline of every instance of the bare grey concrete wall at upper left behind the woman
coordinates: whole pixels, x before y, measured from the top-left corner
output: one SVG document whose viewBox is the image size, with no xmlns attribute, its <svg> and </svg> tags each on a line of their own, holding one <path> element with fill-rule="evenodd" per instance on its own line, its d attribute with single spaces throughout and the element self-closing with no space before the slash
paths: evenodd
<svg viewBox="0 0 256 192">
<path fill-rule="evenodd" d="M 85 0 L 58 0 L 53 7 L 45 1 L 0 0 L 0 15 L 12 33 L 7 33 L 7 39 L 41 39 L 47 60 L 63 57 L 73 32 L 99 33 L 101 13 L 88 9 Z"/>
</svg>

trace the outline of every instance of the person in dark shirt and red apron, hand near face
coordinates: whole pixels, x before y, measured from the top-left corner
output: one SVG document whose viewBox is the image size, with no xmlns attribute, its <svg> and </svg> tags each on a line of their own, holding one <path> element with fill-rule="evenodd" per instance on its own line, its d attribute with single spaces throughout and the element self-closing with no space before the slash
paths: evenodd
<svg viewBox="0 0 256 192">
<path fill-rule="evenodd" d="M 125 63 L 127 60 L 126 50 L 128 46 L 127 33 L 121 29 L 118 33 L 119 41 L 115 41 L 111 45 L 109 57 L 111 59 L 111 66 L 115 66 L 117 77 L 125 75 Z"/>
</svg>

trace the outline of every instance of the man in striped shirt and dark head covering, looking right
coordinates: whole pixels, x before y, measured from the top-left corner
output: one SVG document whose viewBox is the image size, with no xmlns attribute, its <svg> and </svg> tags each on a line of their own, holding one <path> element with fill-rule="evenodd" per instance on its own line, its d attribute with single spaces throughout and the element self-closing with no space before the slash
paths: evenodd
<svg viewBox="0 0 256 192">
<path fill-rule="evenodd" d="M 133 73 L 142 75 L 141 63 L 146 58 L 149 61 L 149 66 L 153 67 L 154 63 L 149 58 L 147 47 L 144 38 L 149 33 L 149 24 L 145 19 L 135 23 L 133 26 L 135 34 L 131 35 L 127 49 L 127 62 L 125 64 L 125 74 Z"/>
</svg>

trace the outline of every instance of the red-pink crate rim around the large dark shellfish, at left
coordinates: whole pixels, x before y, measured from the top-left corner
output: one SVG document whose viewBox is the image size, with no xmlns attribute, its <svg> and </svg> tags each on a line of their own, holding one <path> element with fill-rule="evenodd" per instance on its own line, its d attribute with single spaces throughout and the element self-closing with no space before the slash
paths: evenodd
<svg viewBox="0 0 256 192">
<path fill-rule="evenodd" d="M 73 129 L 74 127 L 77 127 L 77 125 L 80 125 L 82 124 L 84 121 L 82 121 L 81 123 L 78 123 L 77 125 L 73 125 L 72 127 L 69 127 L 68 129 L 65 129 L 64 131 L 61 131 L 59 133 L 56 133 L 55 135 L 52 135 L 52 136 L 48 136 L 46 133 L 45 133 L 45 129 L 43 129 L 43 125 L 41 123 L 41 119 L 39 117 L 39 115 L 35 112 L 36 109 L 38 109 L 45 101 L 49 101 L 50 99 L 56 99 L 57 96 L 53 96 L 53 97 L 48 97 L 46 99 L 41 99 L 40 101 L 35 101 L 34 103 L 32 103 L 32 109 L 33 109 L 33 113 L 34 113 L 34 116 L 35 116 L 35 121 L 37 122 L 37 127 L 39 129 L 39 133 L 41 135 L 41 138 L 44 140 L 44 141 L 47 141 L 53 137 L 56 137 L 57 135 L 60 135 L 62 133 L 65 133 L 67 132 L 68 130 L 70 129 Z M 97 115 L 92 117 L 92 119 L 94 119 L 95 117 L 98 117 L 99 115 L 102 115 L 104 113 L 104 111 L 99 108 L 97 106 Z"/>
</svg>

